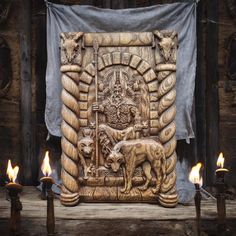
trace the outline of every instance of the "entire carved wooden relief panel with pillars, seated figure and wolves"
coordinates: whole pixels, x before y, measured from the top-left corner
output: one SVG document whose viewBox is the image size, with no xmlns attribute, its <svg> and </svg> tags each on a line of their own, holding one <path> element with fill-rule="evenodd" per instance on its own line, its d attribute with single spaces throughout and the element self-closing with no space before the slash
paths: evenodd
<svg viewBox="0 0 236 236">
<path fill-rule="evenodd" d="M 159 202 L 176 193 L 174 31 L 63 33 L 61 202 Z"/>
</svg>

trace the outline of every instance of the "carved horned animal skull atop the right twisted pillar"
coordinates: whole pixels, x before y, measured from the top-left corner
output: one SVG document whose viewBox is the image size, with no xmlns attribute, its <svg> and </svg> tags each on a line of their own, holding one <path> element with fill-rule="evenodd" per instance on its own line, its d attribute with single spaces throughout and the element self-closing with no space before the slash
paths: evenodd
<svg viewBox="0 0 236 236">
<path fill-rule="evenodd" d="M 176 47 L 176 43 L 173 39 L 177 33 L 173 31 L 171 34 L 162 34 L 159 31 L 155 31 L 154 34 L 160 40 L 158 42 L 158 45 L 159 45 L 161 54 L 165 62 L 168 62 L 171 59 L 172 50 Z"/>
</svg>

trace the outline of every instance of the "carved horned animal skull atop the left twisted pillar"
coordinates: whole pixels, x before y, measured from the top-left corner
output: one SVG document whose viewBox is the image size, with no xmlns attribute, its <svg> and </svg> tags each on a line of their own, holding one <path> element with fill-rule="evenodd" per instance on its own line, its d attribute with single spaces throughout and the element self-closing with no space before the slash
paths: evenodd
<svg viewBox="0 0 236 236">
<path fill-rule="evenodd" d="M 79 40 L 83 36 L 82 32 L 76 33 L 75 35 L 67 35 L 65 33 L 61 34 L 62 39 L 62 49 L 65 51 L 68 63 L 72 63 L 76 52 L 79 49 Z"/>
</svg>

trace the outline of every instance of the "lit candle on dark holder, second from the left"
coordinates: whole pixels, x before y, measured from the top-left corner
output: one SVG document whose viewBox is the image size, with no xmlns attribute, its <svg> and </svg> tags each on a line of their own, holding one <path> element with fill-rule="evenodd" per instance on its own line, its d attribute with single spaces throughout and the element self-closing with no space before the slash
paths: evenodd
<svg viewBox="0 0 236 236">
<path fill-rule="evenodd" d="M 52 185 L 55 183 L 53 178 L 50 177 L 52 169 L 50 166 L 49 152 L 46 151 L 45 157 L 41 166 L 41 170 L 44 177 L 40 179 L 43 184 L 43 189 L 47 192 L 47 233 L 48 235 L 54 235 L 55 230 L 55 216 L 54 216 L 54 203 L 53 203 L 53 191 Z"/>
</svg>

